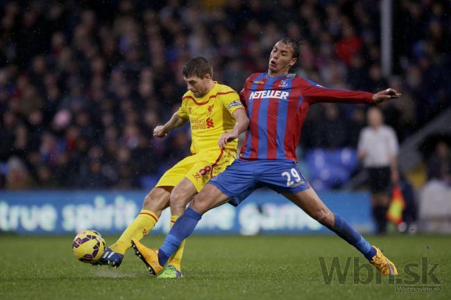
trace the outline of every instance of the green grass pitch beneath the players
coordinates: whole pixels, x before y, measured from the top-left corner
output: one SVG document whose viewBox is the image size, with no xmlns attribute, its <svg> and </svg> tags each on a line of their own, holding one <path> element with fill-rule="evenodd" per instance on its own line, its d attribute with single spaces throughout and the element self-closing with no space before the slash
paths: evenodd
<svg viewBox="0 0 451 300">
<path fill-rule="evenodd" d="M 107 245 L 117 237 L 107 236 Z M 192 236 L 182 261 L 185 277 L 156 279 L 128 250 L 121 267 L 92 267 L 72 256 L 71 236 L 0 235 L 0 299 L 451 299 L 450 236 L 369 236 L 397 265 L 427 258 L 441 292 L 397 292 L 386 277 L 354 283 L 353 261 L 344 283 L 334 274 L 325 283 L 319 257 L 330 271 L 334 256 L 344 269 L 348 257 L 362 256 L 336 236 Z M 144 244 L 157 247 L 162 237 Z M 420 267 L 413 268 L 421 274 Z M 427 270 L 426 270 L 427 272 Z M 359 272 L 367 279 L 366 270 Z M 434 285 L 428 279 L 427 284 Z M 436 286 L 436 284 L 435 284 Z"/>
</svg>

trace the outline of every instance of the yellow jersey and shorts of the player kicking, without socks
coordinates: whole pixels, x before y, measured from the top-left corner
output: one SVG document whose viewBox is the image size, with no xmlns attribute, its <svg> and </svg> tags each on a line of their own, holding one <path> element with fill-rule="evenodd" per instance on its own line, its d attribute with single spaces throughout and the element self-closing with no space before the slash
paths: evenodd
<svg viewBox="0 0 451 300">
<path fill-rule="evenodd" d="M 178 115 L 189 118 L 192 156 L 167 170 L 157 186 L 176 186 L 183 177 L 187 177 L 196 190 L 201 191 L 210 178 L 232 164 L 238 152 L 237 139 L 227 143 L 224 149 L 219 149 L 218 140 L 221 134 L 230 132 L 235 126 L 232 113 L 239 108 L 244 106 L 237 92 L 217 82 L 210 92 L 200 98 L 187 91 L 182 97 Z"/>
</svg>

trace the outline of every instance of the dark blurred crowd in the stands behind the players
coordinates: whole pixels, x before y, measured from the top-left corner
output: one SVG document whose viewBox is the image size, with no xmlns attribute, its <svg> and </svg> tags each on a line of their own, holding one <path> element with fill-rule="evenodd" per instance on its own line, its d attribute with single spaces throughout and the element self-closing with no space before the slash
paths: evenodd
<svg viewBox="0 0 451 300">
<path fill-rule="evenodd" d="M 202 55 L 239 91 L 273 44 L 301 37 L 298 77 L 402 98 L 382 105 L 402 142 L 450 106 L 448 1 L 393 1 L 393 75 L 374 1 L 0 1 L 0 188 L 149 188 L 189 155 L 189 128 L 153 139 Z M 303 148 L 355 147 L 364 105 L 315 105 Z M 442 151 L 444 152 L 444 151 Z"/>
</svg>

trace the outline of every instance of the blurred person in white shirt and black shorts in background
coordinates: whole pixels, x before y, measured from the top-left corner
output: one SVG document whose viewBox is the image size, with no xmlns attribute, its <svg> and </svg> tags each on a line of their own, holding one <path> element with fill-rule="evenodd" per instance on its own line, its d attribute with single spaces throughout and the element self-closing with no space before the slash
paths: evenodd
<svg viewBox="0 0 451 300">
<path fill-rule="evenodd" d="M 386 232 L 386 211 L 390 202 L 389 186 L 398 182 L 398 139 L 393 128 L 384 125 L 378 107 L 368 109 L 368 127 L 360 132 L 357 155 L 368 171 L 373 218 L 377 233 Z"/>
</svg>

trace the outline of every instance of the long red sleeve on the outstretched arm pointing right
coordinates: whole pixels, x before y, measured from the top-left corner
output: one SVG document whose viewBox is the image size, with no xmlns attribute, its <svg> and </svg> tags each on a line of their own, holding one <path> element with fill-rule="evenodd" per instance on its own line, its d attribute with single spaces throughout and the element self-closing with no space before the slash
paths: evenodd
<svg viewBox="0 0 451 300">
<path fill-rule="evenodd" d="M 367 91 L 329 89 L 305 78 L 298 78 L 303 97 L 309 103 L 374 103 L 373 94 Z"/>
</svg>

